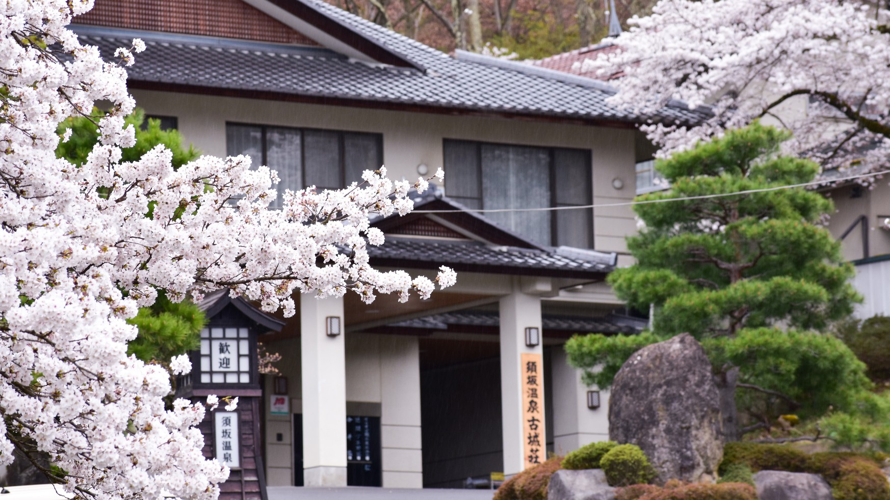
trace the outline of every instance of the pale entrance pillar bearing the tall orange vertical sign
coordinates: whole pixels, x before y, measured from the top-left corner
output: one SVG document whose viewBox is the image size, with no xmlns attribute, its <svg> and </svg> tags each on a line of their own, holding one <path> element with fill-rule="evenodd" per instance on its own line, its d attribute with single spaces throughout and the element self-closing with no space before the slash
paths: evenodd
<svg viewBox="0 0 890 500">
<path fill-rule="evenodd" d="M 517 280 L 518 281 L 518 280 Z M 525 286 L 514 286 L 514 292 L 500 300 L 500 363 L 501 363 L 501 420 L 504 441 L 504 473 L 507 476 L 522 472 L 528 462 L 527 441 L 530 439 L 529 423 L 526 422 L 527 398 L 526 367 L 522 355 L 537 355 L 538 359 L 538 401 L 537 429 L 540 442 L 538 459 L 546 460 L 546 437 L 544 422 L 544 371 L 543 335 L 541 332 L 541 302 L 535 294 L 523 291 Z M 528 347 L 525 343 L 525 329 L 538 328 L 539 343 Z M 528 358 L 527 358 L 528 359 Z"/>
</svg>

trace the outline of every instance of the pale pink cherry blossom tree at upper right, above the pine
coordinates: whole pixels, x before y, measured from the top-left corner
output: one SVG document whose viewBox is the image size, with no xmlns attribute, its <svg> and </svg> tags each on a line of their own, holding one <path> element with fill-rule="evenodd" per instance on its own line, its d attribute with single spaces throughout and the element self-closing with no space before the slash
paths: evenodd
<svg viewBox="0 0 890 500">
<path fill-rule="evenodd" d="M 823 167 L 890 157 L 890 35 L 884 3 L 862 0 L 660 0 L 586 60 L 616 69 L 613 104 L 651 112 L 671 100 L 709 105 L 694 126 L 643 127 L 662 156 L 757 118 L 794 133 L 789 152 Z"/>
</svg>

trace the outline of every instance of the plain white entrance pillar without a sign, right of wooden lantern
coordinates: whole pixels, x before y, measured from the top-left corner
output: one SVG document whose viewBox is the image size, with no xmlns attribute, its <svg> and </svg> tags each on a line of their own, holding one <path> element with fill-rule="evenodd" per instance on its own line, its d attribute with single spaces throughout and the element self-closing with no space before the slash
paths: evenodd
<svg viewBox="0 0 890 500">
<path fill-rule="evenodd" d="M 326 334 L 339 318 L 340 335 Z M 346 361 L 343 299 L 300 297 L 303 484 L 346 486 Z"/>
</svg>

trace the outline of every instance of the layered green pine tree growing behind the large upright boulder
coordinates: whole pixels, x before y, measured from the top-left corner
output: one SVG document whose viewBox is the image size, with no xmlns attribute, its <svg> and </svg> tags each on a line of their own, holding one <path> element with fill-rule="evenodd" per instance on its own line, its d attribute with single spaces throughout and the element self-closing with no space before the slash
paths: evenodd
<svg viewBox="0 0 890 500">
<path fill-rule="evenodd" d="M 861 297 L 848 283 L 853 266 L 822 223 L 831 202 L 804 188 L 768 190 L 819 172 L 781 155 L 788 139 L 754 123 L 657 161 L 670 189 L 637 198 L 653 203 L 634 206 L 644 223 L 627 238 L 636 263 L 609 277 L 629 306 L 653 306 L 652 331 L 571 339 L 569 361 L 587 369 L 587 382 L 607 387 L 636 348 L 688 332 L 716 371 L 740 367 L 743 423 L 768 428 L 779 415 L 853 410 L 870 381 L 862 362 L 824 332 Z M 740 194 L 658 202 L 727 193 Z"/>
</svg>

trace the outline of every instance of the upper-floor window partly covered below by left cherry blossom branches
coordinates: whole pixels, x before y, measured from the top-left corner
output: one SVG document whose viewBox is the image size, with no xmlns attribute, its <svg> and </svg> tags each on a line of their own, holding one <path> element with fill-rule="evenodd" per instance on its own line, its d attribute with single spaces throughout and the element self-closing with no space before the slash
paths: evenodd
<svg viewBox="0 0 890 500">
<path fill-rule="evenodd" d="M 267 125 L 226 124 L 226 154 L 249 155 L 254 165 L 278 171 L 285 190 L 344 188 L 383 165 L 379 133 L 339 132 Z M 271 206 L 280 207 L 281 197 Z"/>
</svg>

